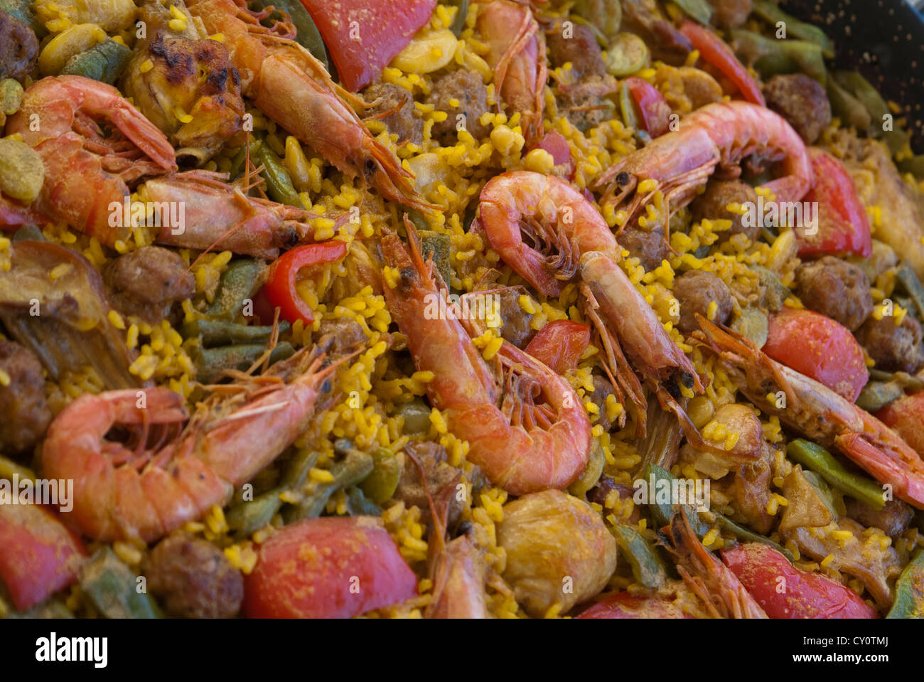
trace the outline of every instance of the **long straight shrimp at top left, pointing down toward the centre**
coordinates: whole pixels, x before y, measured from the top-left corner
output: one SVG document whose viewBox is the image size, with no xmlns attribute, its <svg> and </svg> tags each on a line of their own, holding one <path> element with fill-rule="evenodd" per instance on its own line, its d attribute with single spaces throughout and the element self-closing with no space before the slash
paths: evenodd
<svg viewBox="0 0 924 682">
<path fill-rule="evenodd" d="M 364 104 L 334 84 L 322 63 L 291 40 L 291 26 L 263 26 L 260 21 L 269 11 L 250 11 L 246 0 L 188 0 L 187 7 L 210 34 L 224 36 L 241 90 L 261 112 L 347 176 L 371 178 L 387 199 L 432 210 L 410 181 L 413 174 L 371 136 L 349 106 Z"/>
</svg>

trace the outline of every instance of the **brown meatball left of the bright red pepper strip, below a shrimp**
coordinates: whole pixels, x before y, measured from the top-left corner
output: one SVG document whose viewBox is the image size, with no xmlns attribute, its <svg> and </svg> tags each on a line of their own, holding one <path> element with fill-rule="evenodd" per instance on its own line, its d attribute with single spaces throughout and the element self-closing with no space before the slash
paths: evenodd
<svg viewBox="0 0 924 682">
<path fill-rule="evenodd" d="M 148 246 L 106 263 L 103 281 L 114 307 L 159 323 L 176 301 L 192 296 L 196 278 L 174 251 Z"/>
</svg>

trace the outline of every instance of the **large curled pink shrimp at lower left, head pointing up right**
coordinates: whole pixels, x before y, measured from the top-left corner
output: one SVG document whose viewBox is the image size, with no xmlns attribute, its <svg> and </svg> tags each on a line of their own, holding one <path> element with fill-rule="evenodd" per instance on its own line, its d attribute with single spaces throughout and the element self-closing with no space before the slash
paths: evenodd
<svg viewBox="0 0 924 682">
<path fill-rule="evenodd" d="M 42 449 L 45 475 L 74 481 L 68 525 L 103 542 L 152 542 L 223 504 L 304 431 L 335 366 L 319 371 L 305 353 L 280 364 L 253 386 L 222 386 L 185 429 L 183 396 L 163 386 L 77 398 Z M 128 445 L 107 439 L 114 428 L 132 434 Z"/>
</svg>

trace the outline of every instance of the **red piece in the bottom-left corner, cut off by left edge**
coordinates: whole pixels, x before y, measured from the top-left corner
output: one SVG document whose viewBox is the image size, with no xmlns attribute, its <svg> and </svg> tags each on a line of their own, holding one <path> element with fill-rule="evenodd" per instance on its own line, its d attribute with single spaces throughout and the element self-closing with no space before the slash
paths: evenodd
<svg viewBox="0 0 924 682">
<path fill-rule="evenodd" d="M 78 578 L 80 541 L 38 505 L 0 505 L 0 578 L 18 611 L 28 611 Z"/>
</svg>

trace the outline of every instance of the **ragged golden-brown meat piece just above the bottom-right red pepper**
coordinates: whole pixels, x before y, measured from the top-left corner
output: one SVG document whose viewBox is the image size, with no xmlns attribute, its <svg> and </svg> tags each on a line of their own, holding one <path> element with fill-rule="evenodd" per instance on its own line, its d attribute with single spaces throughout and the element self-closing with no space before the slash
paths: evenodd
<svg viewBox="0 0 924 682">
<path fill-rule="evenodd" d="M 838 540 L 832 535 L 835 530 L 848 530 L 853 533 L 853 538 Z M 832 556 L 828 566 L 857 578 L 879 608 L 888 609 L 892 605 L 890 583 L 902 572 L 901 560 L 894 547 L 883 547 L 876 537 L 863 537 L 864 530 L 852 518 L 841 518 L 822 529 L 795 528 L 781 531 L 780 537 L 784 542 L 795 542 L 799 553 L 814 561 Z"/>
</svg>

